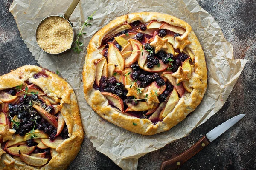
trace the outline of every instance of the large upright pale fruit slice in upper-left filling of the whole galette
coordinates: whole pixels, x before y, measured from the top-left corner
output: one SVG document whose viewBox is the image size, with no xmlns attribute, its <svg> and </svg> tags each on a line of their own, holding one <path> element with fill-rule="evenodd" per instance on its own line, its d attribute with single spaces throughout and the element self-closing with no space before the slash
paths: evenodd
<svg viewBox="0 0 256 170">
<path fill-rule="evenodd" d="M 122 73 L 125 68 L 125 60 L 122 57 L 121 52 L 116 48 L 115 45 L 108 43 L 108 63 L 117 65 L 115 68 L 116 72 Z"/>
</svg>

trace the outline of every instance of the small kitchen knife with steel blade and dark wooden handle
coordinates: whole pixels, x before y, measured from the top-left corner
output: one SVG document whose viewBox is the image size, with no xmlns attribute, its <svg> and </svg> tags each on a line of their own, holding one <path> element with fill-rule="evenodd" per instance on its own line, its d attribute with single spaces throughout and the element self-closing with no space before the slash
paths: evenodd
<svg viewBox="0 0 256 170">
<path fill-rule="evenodd" d="M 206 136 L 203 136 L 198 142 L 196 142 L 188 150 L 184 151 L 183 153 L 180 153 L 179 155 L 177 155 L 173 159 L 170 159 L 168 161 L 164 161 L 161 164 L 161 170 L 175 170 L 175 169 L 177 169 L 182 164 L 184 164 L 187 160 L 189 160 L 195 154 L 197 154 L 200 150 L 204 149 L 204 147 L 206 147 L 208 144 L 210 144 L 216 138 L 221 136 L 222 133 L 224 133 L 230 127 L 235 125 L 236 122 L 238 122 L 244 116 L 245 116 L 245 114 L 239 114 L 239 115 L 227 120 L 226 122 L 222 123 L 221 125 L 218 125 L 214 129 L 209 131 L 206 134 Z"/>
</svg>

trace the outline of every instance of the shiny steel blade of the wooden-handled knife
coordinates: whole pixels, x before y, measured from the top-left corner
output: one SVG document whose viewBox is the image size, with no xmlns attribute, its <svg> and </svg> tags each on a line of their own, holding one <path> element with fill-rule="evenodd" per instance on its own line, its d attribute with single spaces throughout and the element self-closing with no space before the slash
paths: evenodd
<svg viewBox="0 0 256 170">
<path fill-rule="evenodd" d="M 240 119 L 242 119 L 245 116 L 245 114 L 239 114 L 226 122 L 222 123 L 221 125 L 218 125 L 208 133 L 206 133 L 207 139 L 209 139 L 210 142 L 214 141 L 216 138 L 221 136 L 222 133 L 226 132 L 230 127 L 236 124 Z"/>
</svg>

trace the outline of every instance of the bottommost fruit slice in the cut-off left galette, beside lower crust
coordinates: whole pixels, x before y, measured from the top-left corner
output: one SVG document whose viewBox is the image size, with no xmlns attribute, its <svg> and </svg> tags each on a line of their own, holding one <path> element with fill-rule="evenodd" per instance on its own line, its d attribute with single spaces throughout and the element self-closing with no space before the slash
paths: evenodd
<svg viewBox="0 0 256 170">
<path fill-rule="evenodd" d="M 48 158 L 38 158 L 35 156 L 29 156 L 23 153 L 20 154 L 20 159 L 26 164 L 29 164 L 32 166 L 43 166 L 48 161 Z"/>
</svg>

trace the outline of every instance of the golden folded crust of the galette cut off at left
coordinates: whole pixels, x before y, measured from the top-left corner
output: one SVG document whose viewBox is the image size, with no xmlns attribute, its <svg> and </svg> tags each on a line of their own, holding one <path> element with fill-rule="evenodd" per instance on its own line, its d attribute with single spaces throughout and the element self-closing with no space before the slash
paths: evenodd
<svg viewBox="0 0 256 170">
<path fill-rule="evenodd" d="M 56 151 L 58 154 L 52 157 L 48 164 L 41 167 L 44 170 L 64 170 L 75 159 L 84 139 L 83 127 L 79 115 L 76 95 L 70 85 L 57 74 L 45 71 L 48 77 L 34 79 L 33 75 L 41 72 L 43 68 L 34 65 L 25 65 L 0 77 L 0 90 L 13 88 L 25 81 L 32 82 L 40 87 L 47 96 L 61 98 L 58 109 L 66 122 L 69 138 L 61 143 Z M 0 169 L 12 170 L 36 170 L 37 168 L 17 161 L 4 153 L 1 156 Z"/>
</svg>

